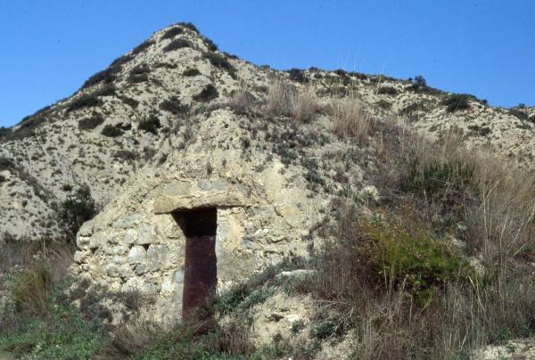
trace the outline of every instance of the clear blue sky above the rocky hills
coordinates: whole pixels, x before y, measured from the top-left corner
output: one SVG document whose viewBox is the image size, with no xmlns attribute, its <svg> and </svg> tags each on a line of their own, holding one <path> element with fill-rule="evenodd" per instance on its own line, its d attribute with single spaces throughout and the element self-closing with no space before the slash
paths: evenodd
<svg viewBox="0 0 535 360">
<path fill-rule="evenodd" d="M 535 105 L 535 1 L 0 0 L 0 126 L 177 21 L 276 69 L 344 68 Z"/>
</svg>

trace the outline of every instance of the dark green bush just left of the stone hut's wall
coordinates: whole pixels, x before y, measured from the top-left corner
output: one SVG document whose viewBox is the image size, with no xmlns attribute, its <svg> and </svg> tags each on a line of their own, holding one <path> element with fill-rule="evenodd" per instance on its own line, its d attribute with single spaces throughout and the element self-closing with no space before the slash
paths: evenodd
<svg viewBox="0 0 535 360">
<path fill-rule="evenodd" d="M 58 218 L 63 228 L 71 235 L 72 240 L 78 233 L 78 229 L 87 220 L 96 215 L 95 200 L 91 196 L 89 186 L 84 185 L 62 201 L 58 209 Z"/>
</svg>

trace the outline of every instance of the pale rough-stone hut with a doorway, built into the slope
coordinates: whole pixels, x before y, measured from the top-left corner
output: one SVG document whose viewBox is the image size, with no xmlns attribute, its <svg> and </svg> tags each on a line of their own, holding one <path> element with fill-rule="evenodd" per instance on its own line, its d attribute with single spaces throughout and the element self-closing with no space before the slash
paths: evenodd
<svg viewBox="0 0 535 360">
<path fill-rule="evenodd" d="M 227 110 L 200 117 L 192 140 L 177 135 L 162 149 L 167 160 L 140 169 L 77 236 L 78 279 L 153 297 L 144 311 L 161 323 L 211 284 L 224 289 L 306 256 L 309 229 L 328 204 L 326 195 L 310 196 L 302 168 L 285 167 L 262 135 L 240 127 L 248 119 Z"/>
</svg>

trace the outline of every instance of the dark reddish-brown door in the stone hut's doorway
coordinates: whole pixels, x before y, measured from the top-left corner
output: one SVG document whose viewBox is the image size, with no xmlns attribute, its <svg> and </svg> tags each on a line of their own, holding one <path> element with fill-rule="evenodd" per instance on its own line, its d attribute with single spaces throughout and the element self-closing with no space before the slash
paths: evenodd
<svg viewBox="0 0 535 360">
<path fill-rule="evenodd" d="M 216 290 L 216 209 L 195 209 L 174 214 L 185 234 L 185 272 L 182 315 L 206 301 Z"/>
</svg>

